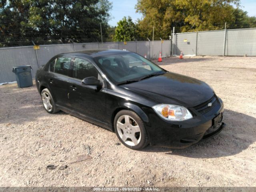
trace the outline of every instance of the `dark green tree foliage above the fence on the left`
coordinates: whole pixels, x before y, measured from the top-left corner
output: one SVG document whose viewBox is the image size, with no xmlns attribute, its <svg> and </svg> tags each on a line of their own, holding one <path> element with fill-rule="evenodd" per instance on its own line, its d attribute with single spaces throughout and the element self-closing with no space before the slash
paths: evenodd
<svg viewBox="0 0 256 192">
<path fill-rule="evenodd" d="M 108 0 L 0 0 L 0 42 L 100 41 L 111 8 Z"/>
</svg>

